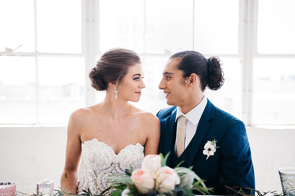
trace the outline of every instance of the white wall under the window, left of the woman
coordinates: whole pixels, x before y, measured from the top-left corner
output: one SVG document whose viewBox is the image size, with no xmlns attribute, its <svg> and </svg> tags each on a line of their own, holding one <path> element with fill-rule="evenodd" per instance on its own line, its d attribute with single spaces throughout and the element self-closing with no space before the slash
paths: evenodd
<svg viewBox="0 0 295 196">
<path fill-rule="evenodd" d="M 44 179 L 58 189 L 66 140 L 66 127 L 0 127 L 0 182 L 16 182 L 27 194 Z"/>
</svg>

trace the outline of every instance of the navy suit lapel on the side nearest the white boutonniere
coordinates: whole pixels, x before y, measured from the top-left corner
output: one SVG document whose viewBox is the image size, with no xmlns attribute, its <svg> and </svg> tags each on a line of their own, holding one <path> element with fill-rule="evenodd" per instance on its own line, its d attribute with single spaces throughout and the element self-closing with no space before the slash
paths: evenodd
<svg viewBox="0 0 295 196">
<path fill-rule="evenodd" d="M 201 119 L 199 121 L 195 136 L 193 138 L 193 143 L 191 146 L 191 153 L 188 159 L 188 167 L 191 166 L 199 148 L 200 145 L 208 132 L 210 125 L 208 123 L 208 120 L 214 118 L 214 105 L 208 100 L 207 105 L 205 107 L 205 110 L 201 116 Z"/>
</svg>

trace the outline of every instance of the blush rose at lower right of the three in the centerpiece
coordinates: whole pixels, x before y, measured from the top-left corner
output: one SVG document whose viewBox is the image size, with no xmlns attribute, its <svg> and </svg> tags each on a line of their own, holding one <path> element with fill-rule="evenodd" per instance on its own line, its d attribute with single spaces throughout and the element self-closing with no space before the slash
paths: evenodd
<svg viewBox="0 0 295 196">
<path fill-rule="evenodd" d="M 156 188 L 161 193 L 174 190 L 175 185 L 180 183 L 180 178 L 174 169 L 165 166 L 158 170 Z"/>
</svg>

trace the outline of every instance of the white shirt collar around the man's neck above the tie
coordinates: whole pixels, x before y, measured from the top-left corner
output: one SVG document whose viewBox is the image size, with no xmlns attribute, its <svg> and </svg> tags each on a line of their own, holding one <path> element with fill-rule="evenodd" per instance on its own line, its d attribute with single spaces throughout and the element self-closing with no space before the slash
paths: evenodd
<svg viewBox="0 0 295 196">
<path fill-rule="evenodd" d="M 199 120 L 201 119 L 201 116 L 203 114 L 203 111 L 205 110 L 205 107 L 207 105 L 207 102 L 208 102 L 207 101 L 207 98 L 204 95 L 202 101 L 196 107 L 194 107 L 191 111 L 187 112 L 186 114 L 183 114 L 183 112 L 181 111 L 180 107 L 177 106 L 175 122 L 176 122 L 176 120 L 178 119 L 178 117 L 180 115 L 183 115 L 191 123 L 193 123 L 196 126 L 197 123 L 199 122 Z"/>
</svg>

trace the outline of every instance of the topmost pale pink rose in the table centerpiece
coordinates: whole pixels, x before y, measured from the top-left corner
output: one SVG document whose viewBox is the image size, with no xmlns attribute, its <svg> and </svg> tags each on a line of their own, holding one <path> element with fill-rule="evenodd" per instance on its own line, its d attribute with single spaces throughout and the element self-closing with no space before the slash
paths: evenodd
<svg viewBox="0 0 295 196">
<path fill-rule="evenodd" d="M 150 170 L 155 177 L 158 169 L 161 168 L 161 156 L 156 154 L 149 154 L 147 156 L 144 156 L 141 168 Z"/>
</svg>

